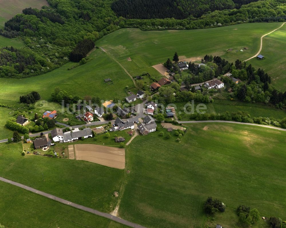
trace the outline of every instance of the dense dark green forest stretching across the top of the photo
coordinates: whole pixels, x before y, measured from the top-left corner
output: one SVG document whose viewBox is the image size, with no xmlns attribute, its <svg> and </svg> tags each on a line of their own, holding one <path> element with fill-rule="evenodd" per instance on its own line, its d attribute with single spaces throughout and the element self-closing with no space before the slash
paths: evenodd
<svg viewBox="0 0 286 228">
<path fill-rule="evenodd" d="M 0 47 L 0 77 L 24 78 L 51 71 L 75 57 L 71 55 L 73 50 L 79 54 L 75 48 L 79 42 L 94 42 L 120 28 L 200 29 L 286 19 L 284 0 L 47 1 L 49 7 L 23 9 L 22 14 L 5 23 L 4 30 L 0 29 L 0 35 L 19 36 L 25 43 L 21 49 Z M 124 4 L 129 3 L 130 11 L 126 11 Z M 150 19 L 136 19 L 135 14 Z M 78 55 L 76 61 L 85 53 Z"/>
</svg>

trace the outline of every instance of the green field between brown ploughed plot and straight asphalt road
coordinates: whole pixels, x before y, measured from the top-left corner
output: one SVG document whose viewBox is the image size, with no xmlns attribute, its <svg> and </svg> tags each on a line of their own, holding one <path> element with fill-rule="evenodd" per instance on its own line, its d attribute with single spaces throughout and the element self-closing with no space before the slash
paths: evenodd
<svg viewBox="0 0 286 228">
<path fill-rule="evenodd" d="M 121 185 L 123 170 L 80 160 L 21 156 L 22 151 L 21 142 L 0 144 L 0 176 L 102 212 L 114 209 L 118 199 L 112 194 Z"/>
</svg>

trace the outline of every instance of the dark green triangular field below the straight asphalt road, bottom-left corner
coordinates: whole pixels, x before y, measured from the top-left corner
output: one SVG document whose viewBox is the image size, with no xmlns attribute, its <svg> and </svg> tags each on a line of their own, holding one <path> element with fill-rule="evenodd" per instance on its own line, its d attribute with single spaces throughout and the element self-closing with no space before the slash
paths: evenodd
<svg viewBox="0 0 286 228">
<path fill-rule="evenodd" d="M 127 228 L 2 181 L 0 193 L 0 221 L 5 227 Z"/>
</svg>

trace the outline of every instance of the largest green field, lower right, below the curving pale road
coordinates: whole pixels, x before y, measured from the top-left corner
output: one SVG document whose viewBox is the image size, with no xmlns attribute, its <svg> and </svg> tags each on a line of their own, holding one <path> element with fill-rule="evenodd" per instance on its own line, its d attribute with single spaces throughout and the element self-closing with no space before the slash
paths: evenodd
<svg viewBox="0 0 286 228">
<path fill-rule="evenodd" d="M 235 209 L 243 204 L 285 220 L 286 132 L 200 123 L 188 125 L 181 142 L 158 135 L 138 136 L 127 147 L 120 217 L 147 227 L 241 227 Z M 225 212 L 207 217 L 208 196 L 223 201 Z M 266 225 L 261 219 L 253 227 Z"/>
</svg>

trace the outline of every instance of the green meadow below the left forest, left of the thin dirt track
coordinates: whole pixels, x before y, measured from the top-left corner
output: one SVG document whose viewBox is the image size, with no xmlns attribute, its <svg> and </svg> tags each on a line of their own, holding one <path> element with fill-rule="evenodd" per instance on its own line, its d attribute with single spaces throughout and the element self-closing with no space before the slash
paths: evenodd
<svg viewBox="0 0 286 228">
<path fill-rule="evenodd" d="M 59 86 L 69 94 L 79 96 L 99 96 L 101 99 L 124 98 L 125 87 L 134 86 L 131 78 L 106 53 L 96 49 L 90 55 L 90 61 L 78 66 L 69 62 L 46 74 L 24 79 L 0 78 L 0 103 L 18 102 L 19 96 L 38 91 L 42 99 L 50 100 L 51 92 Z M 71 70 L 73 66 L 78 66 Z M 112 82 L 105 83 L 105 78 Z"/>
</svg>

